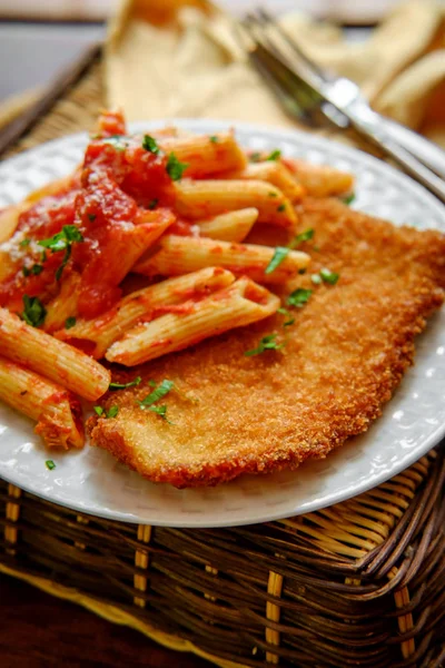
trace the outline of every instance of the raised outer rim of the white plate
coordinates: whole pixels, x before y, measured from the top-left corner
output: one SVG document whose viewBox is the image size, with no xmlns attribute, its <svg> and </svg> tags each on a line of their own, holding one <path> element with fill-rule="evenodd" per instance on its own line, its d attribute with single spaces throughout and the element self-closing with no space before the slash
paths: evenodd
<svg viewBox="0 0 445 668">
<path fill-rule="evenodd" d="M 230 120 L 230 119 L 168 118 L 168 119 L 149 120 L 149 121 L 138 120 L 138 121 L 129 122 L 128 127 L 129 127 L 130 132 L 132 132 L 132 131 L 140 131 L 140 129 L 150 130 L 150 129 L 158 128 L 159 126 L 162 127 L 166 125 L 175 125 L 179 128 L 191 129 L 191 130 L 195 129 L 198 131 L 199 131 L 199 128 L 200 128 L 200 131 L 207 131 L 207 130 L 202 130 L 202 128 L 206 127 L 206 128 L 209 128 L 209 131 L 211 131 L 211 129 L 219 130 L 219 129 L 234 128 L 235 132 L 237 132 L 237 130 L 239 130 L 239 131 L 248 134 L 248 135 L 255 135 L 255 132 L 263 132 L 263 134 L 267 134 L 267 136 L 268 136 L 268 138 L 270 138 L 270 140 L 276 138 L 277 140 L 280 140 L 280 141 L 289 141 L 290 140 L 290 141 L 297 141 L 297 143 L 299 141 L 305 145 L 309 144 L 312 147 L 320 149 L 322 153 L 323 153 L 323 149 L 326 149 L 327 151 L 329 151 L 329 147 L 332 147 L 334 145 L 335 151 L 339 157 L 345 156 L 345 157 L 350 157 L 352 159 L 357 159 L 357 155 L 358 155 L 358 158 L 360 159 L 362 164 L 364 164 L 365 166 L 369 165 L 370 167 L 378 169 L 378 171 L 383 175 L 385 175 L 385 174 L 390 175 L 392 178 L 396 178 L 399 181 L 404 183 L 406 186 L 409 186 L 412 191 L 414 190 L 414 193 L 416 193 L 418 196 L 421 196 L 423 198 L 427 197 L 429 200 L 429 205 L 436 210 L 436 214 L 444 226 L 444 228 L 443 229 L 441 228 L 441 230 L 445 232 L 445 208 L 432 193 L 426 190 L 421 184 L 415 181 L 413 178 L 411 178 L 406 174 L 398 171 L 392 165 L 388 165 L 387 163 L 380 160 L 379 158 L 377 158 L 375 156 L 367 154 L 366 151 L 364 151 L 362 149 L 358 149 L 358 148 L 355 148 L 355 147 L 352 147 L 348 145 L 344 145 L 340 141 L 337 141 L 335 139 L 330 139 L 327 137 L 319 137 L 319 136 L 313 135 L 312 132 L 305 132 L 304 130 L 300 130 L 300 129 L 278 128 L 278 127 L 268 126 L 268 125 L 264 125 L 264 124 L 239 122 L 239 121 Z M 10 166 L 16 166 L 17 164 L 20 165 L 20 161 L 26 159 L 26 157 L 29 156 L 30 154 L 36 154 L 36 153 L 40 153 L 40 151 L 44 153 L 46 150 L 51 149 L 51 148 L 57 149 L 58 145 L 65 145 L 70 141 L 77 143 L 77 141 L 81 141 L 81 140 L 85 140 L 85 141 L 88 140 L 87 132 L 76 132 L 76 134 L 71 134 L 71 135 L 66 135 L 63 137 L 59 137 L 57 139 L 51 139 L 49 141 L 42 143 L 34 148 L 30 148 L 30 149 L 27 149 L 26 151 L 20 153 L 17 156 L 12 156 L 10 158 L 2 159 L 1 164 L 0 164 L 0 174 L 3 169 L 8 169 L 8 167 L 10 167 Z M 329 164 L 328 156 L 326 156 L 325 164 Z M 373 215 L 373 214 L 370 214 L 370 215 Z M 389 402 L 387 402 L 385 404 L 385 406 L 389 405 L 390 401 L 392 400 L 389 400 Z M 378 422 L 378 419 L 376 421 L 374 421 L 373 424 L 377 423 L 377 422 Z M 315 499 L 307 503 L 300 503 L 300 508 L 297 511 L 294 511 L 291 514 L 289 514 L 289 510 L 283 511 L 280 513 L 279 511 L 274 512 L 273 508 L 270 508 L 270 511 L 268 513 L 265 512 L 260 517 L 258 515 L 255 519 L 249 519 L 248 521 L 243 520 L 243 519 L 230 520 L 229 518 L 227 518 L 226 520 L 222 519 L 220 521 L 212 520 L 211 523 L 209 523 L 209 520 L 202 521 L 202 519 L 197 519 L 197 520 L 192 521 L 189 518 L 188 519 L 185 518 L 185 520 L 179 521 L 179 518 L 178 518 L 178 520 L 175 521 L 174 523 L 166 524 L 165 520 L 164 521 L 158 520 L 157 518 L 150 518 L 150 520 L 147 520 L 147 519 L 142 519 L 137 513 L 126 513 L 122 511 L 117 512 L 115 510 L 108 509 L 107 507 L 103 507 L 100 511 L 98 511 L 97 509 L 90 510 L 88 508 L 85 508 L 82 502 L 72 503 L 72 502 L 65 501 L 63 499 L 58 499 L 57 495 L 55 498 L 55 495 L 51 492 L 46 493 L 44 490 L 39 491 L 39 490 L 33 489 L 32 484 L 28 484 L 28 483 L 18 484 L 17 481 L 13 480 L 13 477 L 8 475 L 8 472 L 2 471 L 0 478 L 2 478 L 6 482 L 8 482 L 10 484 L 19 487 L 20 489 L 22 489 L 23 491 L 26 491 L 28 493 L 31 493 L 38 498 L 44 499 L 46 501 L 49 501 L 57 505 L 61 505 L 63 508 L 67 508 L 67 509 L 73 510 L 73 511 L 79 511 L 79 512 L 82 512 L 82 513 L 91 515 L 91 517 L 97 517 L 97 518 L 107 519 L 107 520 L 111 520 L 111 521 L 119 521 L 119 522 L 126 522 L 126 523 L 149 523 L 149 524 L 156 525 L 156 527 L 161 525 L 161 527 L 194 528 L 194 529 L 228 528 L 228 527 L 257 524 L 257 523 L 269 522 L 269 521 L 279 521 L 279 520 L 283 520 L 283 519 L 286 519 L 289 517 L 297 517 L 299 514 L 315 512 L 318 510 L 323 510 L 324 508 L 328 508 L 330 505 L 342 503 L 350 498 L 357 497 L 362 493 L 365 493 L 365 492 L 383 484 L 387 480 L 394 478 L 395 475 L 399 474 L 404 470 L 408 469 L 416 461 L 422 459 L 422 456 L 427 454 L 433 448 L 438 445 L 444 438 L 445 438 L 445 422 L 442 424 L 438 424 L 436 426 L 436 429 L 425 439 L 425 441 L 423 441 L 422 448 L 417 448 L 414 451 L 409 451 L 405 458 L 402 458 L 400 460 L 398 460 L 398 463 L 393 465 L 390 471 L 384 471 L 383 473 L 377 474 L 374 480 L 370 479 L 368 481 L 368 484 L 360 483 L 359 491 L 356 488 L 354 488 L 353 485 L 348 485 L 344 489 L 343 493 L 342 492 L 340 493 L 330 492 L 329 494 L 324 495 L 322 502 L 318 499 Z M 334 452 L 336 452 L 339 449 L 336 449 Z"/>
</svg>

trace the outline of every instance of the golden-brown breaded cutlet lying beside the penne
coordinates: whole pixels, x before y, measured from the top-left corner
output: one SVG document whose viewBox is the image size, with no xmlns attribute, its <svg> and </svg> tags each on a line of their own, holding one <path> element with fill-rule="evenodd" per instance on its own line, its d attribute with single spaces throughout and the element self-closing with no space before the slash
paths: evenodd
<svg viewBox="0 0 445 668">
<path fill-rule="evenodd" d="M 212 485 L 241 473 L 297 468 L 365 432 L 413 364 L 414 337 L 443 302 L 445 236 L 396 228 L 332 199 L 307 198 L 300 229 L 314 238 L 310 273 L 339 274 L 313 289 L 301 308 L 214 337 L 145 366 L 113 369 L 113 380 L 142 382 L 109 393 L 112 420 L 95 416 L 92 443 L 152 481 Z M 276 242 L 275 242 L 276 243 Z M 246 356 L 277 334 L 278 351 Z M 147 384 L 170 380 L 162 416 L 137 404 Z"/>
</svg>

